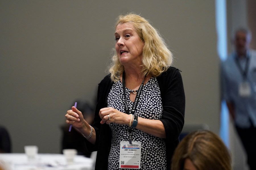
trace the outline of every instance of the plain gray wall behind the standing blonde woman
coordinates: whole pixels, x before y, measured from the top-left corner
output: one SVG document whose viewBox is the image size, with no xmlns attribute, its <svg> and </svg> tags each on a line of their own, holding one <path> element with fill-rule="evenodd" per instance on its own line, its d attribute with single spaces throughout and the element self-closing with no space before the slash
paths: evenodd
<svg viewBox="0 0 256 170">
<path fill-rule="evenodd" d="M 219 132 L 215 2 L 0 1 L 0 124 L 13 152 L 60 152 L 60 125 L 74 100 L 94 100 L 114 47 L 115 18 L 134 11 L 164 36 L 182 70 L 185 123 Z"/>
</svg>

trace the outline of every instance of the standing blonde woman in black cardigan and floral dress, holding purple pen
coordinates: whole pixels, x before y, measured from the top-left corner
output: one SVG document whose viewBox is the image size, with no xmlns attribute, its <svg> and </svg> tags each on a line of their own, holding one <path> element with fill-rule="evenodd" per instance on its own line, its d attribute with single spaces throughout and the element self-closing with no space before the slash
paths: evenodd
<svg viewBox="0 0 256 170">
<path fill-rule="evenodd" d="M 113 64 L 98 87 L 93 126 L 75 107 L 67 111 L 66 122 L 86 137 L 90 152 L 98 151 L 95 169 L 170 168 L 167 160 L 184 124 L 180 72 L 170 67 L 172 53 L 143 17 L 119 16 L 114 35 Z M 123 153 L 129 144 L 138 144 L 136 153 Z"/>
</svg>

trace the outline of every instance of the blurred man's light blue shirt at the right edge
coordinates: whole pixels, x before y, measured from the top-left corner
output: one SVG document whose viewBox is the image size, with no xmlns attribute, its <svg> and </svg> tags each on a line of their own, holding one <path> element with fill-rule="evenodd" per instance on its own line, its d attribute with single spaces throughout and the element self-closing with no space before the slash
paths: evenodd
<svg viewBox="0 0 256 170">
<path fill-rule="evenodd" d="M 245 70 L 248 58 L 247 76 L 244 77 L 241 69 Z M 249 50 L 243 58 L 238 58 L 237 53 L 232 53 L 221 67 L 222 98 L 232 102 L 235 108 L 235 123 L 241 128 L 248 128 L 251 125 L 256 127 L 256 51 Z M 251 95 L 241 97 L 239 86 L 248 82 L 251 88 Z"/>
</svg>

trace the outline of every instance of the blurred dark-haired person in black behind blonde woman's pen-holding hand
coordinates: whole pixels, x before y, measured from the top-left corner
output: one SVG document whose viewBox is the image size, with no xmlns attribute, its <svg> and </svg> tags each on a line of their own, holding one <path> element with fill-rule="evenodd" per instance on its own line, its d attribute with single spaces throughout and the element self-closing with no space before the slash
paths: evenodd
<svg viewBox="0 0 256 170">
<path fill-rule="evenodd" d="M 77 100 L 76 102 L 77 109 L 82 112 L 84 119 L 90 123 L 90 125 L 92 125 L 94 121 L 94 110 L 92 106 L 88 102 L 84 102 L 82 100 Z M 74 106 L 74 104 L 72 106 Z M 69 109 L 71 109 L 72 106 L 70 106 Z M 78 155 L 84 155 L 90 158 L 91 153 L 86 149 L 84 137 L 80 132 L 77 131 L 76 128 L 72 127 L 71 131 L 69 132 L 69 125 L 65 123 L 61 126 L 61 131 L 61 153 L 63 149 L 76 149 Z"/>
</svg>

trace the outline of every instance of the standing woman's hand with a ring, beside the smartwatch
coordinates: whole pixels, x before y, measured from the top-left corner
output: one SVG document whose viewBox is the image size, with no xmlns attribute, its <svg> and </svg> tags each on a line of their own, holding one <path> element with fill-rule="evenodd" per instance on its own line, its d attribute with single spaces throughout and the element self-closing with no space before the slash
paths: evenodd
<svg viewBox="0 0 256 170">
<path fill-rule="evenodd" d="M 100 121 L 101 124 L 117 123 L 119 125 L 129 125 L 131 120 L 130 115 L 120 112 L 112 107 L 100 109 L 99 115 L 102 119 Z"/>
</svg>

